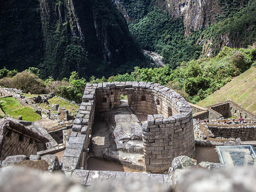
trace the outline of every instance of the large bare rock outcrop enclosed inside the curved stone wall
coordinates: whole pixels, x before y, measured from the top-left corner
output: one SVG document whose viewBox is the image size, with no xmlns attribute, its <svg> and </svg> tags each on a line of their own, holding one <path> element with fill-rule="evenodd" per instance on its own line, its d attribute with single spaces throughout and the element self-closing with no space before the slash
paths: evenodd
<svg viewBox="0 0 256 192">
<path fill-rule="evenodd" d="M 95 118 L 92 156 L 144 170 L 141 123 L 132 110 L 128 107 L 113 109 Z"/>
</svg>

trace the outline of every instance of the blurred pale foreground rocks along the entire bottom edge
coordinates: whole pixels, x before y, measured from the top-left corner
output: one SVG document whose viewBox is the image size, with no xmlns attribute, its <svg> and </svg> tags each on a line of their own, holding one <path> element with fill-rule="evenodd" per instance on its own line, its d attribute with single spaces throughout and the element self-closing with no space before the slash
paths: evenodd
<svg viewBox="0 0 256 192">
<path fill-rule="evenodd" d="M 183 157 L 184 158 L 184 157 Z M 180 162 L 187 160 L 178 160 Z M 207 164 L 208 162 L 205 162 Z M 208 164 L 209 165 L 209 164 Z M 209 166 L 206 167 L 209 167 Z M 170 189 L 161 183 L 152 182 L 145 177 L 120 178 L 115 180 L 97 181 L 89 187 L 84 187 L 74 177 L 65 174 L 39 172 L 20 167 L 4 167 L 0 169 L 1 192 L 252 192 L 256 191 L 256 168 L 234 167 L 229 169 L 208 170 L 191 166 L 195 169 L 181 173 L 175 188 Z M 216 166 L 215 166 L 216 167 Z M 176 169 L 178 170 L 178 169 Z M 146 174 L 146 173 L 145 173 Z M 81 175 L 82 176 L 82 175 Z"/>
</svg>

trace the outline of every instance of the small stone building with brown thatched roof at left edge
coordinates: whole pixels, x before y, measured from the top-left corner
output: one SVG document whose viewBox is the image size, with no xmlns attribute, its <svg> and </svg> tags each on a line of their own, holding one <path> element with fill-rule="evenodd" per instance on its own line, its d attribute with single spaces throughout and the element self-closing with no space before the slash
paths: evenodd
<svg viewBox="0 0 256 192">
<path fill-rule="evenodd" d="M 36 155 L 38 142 L 49 140 L 11 119 L 0 120 L 0 161 L 12 155 Z"/>
</svg>

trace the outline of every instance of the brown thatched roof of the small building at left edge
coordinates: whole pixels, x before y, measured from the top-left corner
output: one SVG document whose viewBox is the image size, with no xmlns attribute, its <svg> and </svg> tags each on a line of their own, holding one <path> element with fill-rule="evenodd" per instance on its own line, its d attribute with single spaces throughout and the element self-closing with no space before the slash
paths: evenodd
<svg viewBox="0 0 256 192">
<path fill-rule="evenodd" d="M 42 135 L 39 135 L 37 132 L 34 132 L 28 129 L 23 124 L 4 118 L 0 120 L 0 152 L 4 144 L 4 136 L 7 129 L 10 129 L 21 135 L 37 140 L 38 142 L 42 142 L 42 143 L 49 142 L 47 138 L 45 138 Z"/>
</svg>

